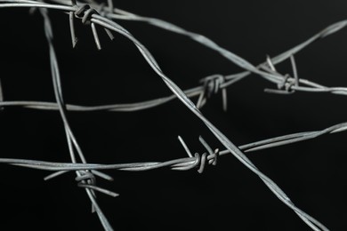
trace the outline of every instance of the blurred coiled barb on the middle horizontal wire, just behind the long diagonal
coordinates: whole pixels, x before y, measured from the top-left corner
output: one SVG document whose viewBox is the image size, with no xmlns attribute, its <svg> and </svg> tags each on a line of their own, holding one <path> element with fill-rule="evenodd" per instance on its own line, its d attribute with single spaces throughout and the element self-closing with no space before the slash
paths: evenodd
<svg viewBox="0 0 347 231">
<path fill-rule="evenodd" d="M 204 90 L 198 98 L 197 108 L 202 108 L 206 104 L 206 100 L 211 98 L 213 94 L 217 94 L 222 90 L 222 104 L 224 111 L 227 110 L 227 91 L 222 86 L 225 83 L 225 76 L 213 75 L 207 76 L 200 80 L 203 83 Z"/>
</svg>

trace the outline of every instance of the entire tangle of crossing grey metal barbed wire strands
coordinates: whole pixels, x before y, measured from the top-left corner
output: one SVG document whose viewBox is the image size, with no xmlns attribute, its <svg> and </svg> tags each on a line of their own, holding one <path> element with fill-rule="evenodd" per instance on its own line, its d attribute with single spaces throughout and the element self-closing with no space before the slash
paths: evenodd
<svg viewBox="0 0 347 231">
<path fill-rule="evenodd" d="M 71 158 L 71 163 L 53 163 L 53 162 L 43 162 L 34 160 L 24 160 L 24 159 L 0 159 L 0 163 L 10 163 L 22 167 L 35 168 L 46 171 L 54 171 L 51 175 L 47 176 L 45 179 L 52 179 L 68 171 L 76 171 L 77 174 L 77 185 L 78 187 L 84 187 L 87 195 L 89 196 L 92 204 L 93 211 L 96 211 L 102 226 L 105 230 L 112 230 L 108 219 L 101 211 L 99 204 L 95 198 L 95 191 L 105 193 L 107 195 L 117 196 L 116 193 L 110 192 L 107 189 L 97 187 L 95 184 L 95 176 L 99 176 L 104 179 L 111 179 L 108 175 L 102 173 L 100 170 L 114 169 L 121 171 L 148 171 L 157 168 L 168 167 L 172 170 L 186 171 L 193 168 L 198 168 L 198 172 L 203 172 L 206 164 L 216 164 L 217 159 L 220 155 L 232 154 L 238 160 L 246 165 L 246 167 L 253 171 L 256 175 L 262 179 L 263 183 L 270 188 L 274 195 L 278 196 L 278 199 L 285 203 L 289 208 L 291 208 L 295 213 L 303 219 L 303 221 L 311 227 L 313 230 L 328 230 L 327 227 L 322 225 L 317 219 L 312 218 L 310 215 L 300 210 L 295 204 L 289 199 L 289 197 L 275 184 L 269 177 L 264 175 L 254 163 L 252 163 L 246 155 L 242 152 L 250 152 L 270 147 L 283 146 L 289 143 L 294 143 L 302 141 L 305 139 L 313 139 L 320 135 L 327 133 L 335 133 L 340 131 L 345 131 L 347 129 L 347 123 L 339 123 L 322 131 L 306 131 L 299 132 L 295 134 L 280 136 L 272 139 L 265 139 L 262 141 L 247 144 L 241 147 L 235 146 L 230 139 L 228 139 L 221 131 L 219 131 L 213 123 L 211 123 L 200 111 L 206 104 L 206 100 L 210 98 L 214 93 L 222 91 L 222 105 L 223 109 L 227 108 L 227 92 L 226 88 L 231 84 L 238 82 L 239 80 L 249 76 L 250 74 L 256 74 L 262 76 L 264 79 L 268 80 L 272 84 L 277 85 L 277 89 L 265 89 L 265 92 L 270 93 L 294 93 L 294 92 L 331 92 L 335 94 L 346 94 L 347 88 L 344 87 L 326 87 L 321 84 L 313 83 L 309 80 L 299 78 L 296 63 L 295 54 L 303 50 L 309 44 L 317 41 L 319 38 L 324 38 L 326 36 L 332 35 L 333 33 L 339 31 L 347 25 L 347 20 L 342 20 L 337 22 L 322 31 L 320 31 L 315 36 L 312 36 L 302 44 L 295 46 L 294 48 L 275 56 L 274 58 L 267 57 L 266 61 L 258 66 L 254 66 L 247 60 L 242 59 L 238 55 L 222 48 L 218 44 L 215 44 L 212 40 L 206 36 L 201 36 L 196 33 L 192 33 L 185 29 L 179 28 L 171 23 L 165 22 L 164 20 L 157 20 L 154 18 L 142 17 L 135 15 L 130 12 L 125 12 L 123 10 L 113 8 L 113 4 L 109 1 L 109 5 L 96 4 L 94 2 L 89 2 L 88 4 L 82 4 L 75 0 L 72 1 L 62 1 L 54 0 L 54 4 L 37 2 L 37 1 L 27 1 L 27 0 L 13 0 L 4 1 L 0 0 L 0 8 L 8 7 L 27 7 L 27 8 L 37 8 L 44 18 L 44 32 L 49 44 L 51 71 L 52 71 L 52 83 L 56 102 L 41 102 L 41 101 L 6 101 L 0 102 L 0 107 L 9 106 L 20 106 L 25 108 L 36 108 L 36 109 L 46 109 L 46 110 L 58 110 L 61 115 L 62 122 L 64 124 L 64 129 L 67 137 L 67 142 L 69 146 L 69 154 Z M 112 10 L 113 9 L 113 10 Z M 173 95 L 159 98 L 156 100 L 147 100 L 132 104 L 115 104 L 115 105 L 102 105 L 102 106 L 78 106 L 66 104 L 63 100 L 63 93 L 61 88 L 61 76 L 58 67 L 58 60 L 54 51 L 52 44 L 52 25 L 51 20 L 48 16 L 48 10 L 58 10 L 66 12 L 69 14 L 69 26 L 70 34 L 73 47 L 77 44 L 77 35 L 75 32 L 74 21 L 76 19 L 81 20 L 84 24 L 89 24 L 92 28 L 93 39 L 98 49 L 101 49 L 101 43 L 99 40 L 98 33 L 96 31 L 96 26 L 105 29 L 105 32 L 110 39 L 113 38 L 112 32 L 125 36 L 128 40 L 133 42 L 137 47 L 143 58 L 148 62 L 149 66 L 157 73 L 158 76 L 164 81 L 166 86 L 173 92 Z M 158 28 L 164 28 L 166 30 L 172 31 L 177 34 L 182 34 L 184 36 L 189 36 L 196 42 L 205 45 L 206 47 L 219 52 L 223 57 L 230 60 L 231 62 L 238 65 L 238 67 L 245 69 L 246 71 L 240 72 L 238 74 L 233 74 L 229 76 L 214 75 L 206 76 L 201 79 L 202 85 L 182 91 L 180 87 L 173 83 L 173 81 L 165 76 L 164 72 L 161 70 L 157 64 L 157 60 L 152 56 L 149 50 L 141 44 L 132 34 L 130 34 L 125 28 L 121 27 L 114 20 L 138 20 L 145 21 L 154 25 Z M 276 70 L 276 65 L 285 60 L 289 60 L 293 69 L 293 76 L 288 74 L 282 75 Z M 190 98 L 198 97 L 197 104 L 194 104 Z M 66 115 L 67 110 L 73 111 L 95 111 L 95 110 L 106 110 L 106 111 L 135 111 L 147 108 L 157 107 L 164 103 L 169 102 L 174 99 L 181 100 L 182 103 L 190 109 L 192 113 L 198 116 L 206 127 L 214 134 L 215 138 L 218 139 L 222 146 L 226 149 L 219 151 L 219 149 L 213 149 L 207 144 L 207 142 L 199 138 L 201 144 L 206 148 L 206 152 L 202 155 L 195 153 L 192 155 L 190 149 L 185 144 L 182 138 L 179 138 L 182 146 L 184 147 L 188 157 L 179 158 L 175 160 L 170 160 L 166 162 L 148 162 L 148 163 L 117 163 L 117 164 L 97 164 L 97 163 L 87 163 L 85 160 L 85 155 L 83 154 L 82 148 L 79 146 L 77 139 L 71 131 L 69 120 Z M 76 153 L 77 152 L 77 155 Z M 79 158 L 79 160 L 77 159 Z"/>
</svg>

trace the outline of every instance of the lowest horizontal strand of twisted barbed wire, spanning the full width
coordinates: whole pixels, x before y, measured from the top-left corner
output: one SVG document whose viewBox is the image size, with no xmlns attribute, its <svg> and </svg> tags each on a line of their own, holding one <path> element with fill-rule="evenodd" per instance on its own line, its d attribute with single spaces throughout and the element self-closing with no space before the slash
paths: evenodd
<svg viewBox="0 0 347 231">
<path fill-rule="evenodd" d="M 328 127 L 321 131 L 304 131 L 293 134 L 288 134 L 285 136 L 278 136 L 276 138 L 271 139 L 263 139 L 260 141 L 256 141 L 253 143 L 241 145 L 238 148 L 243 150 L 246 153 L 254 152 L 262 149 L 268 149 L 271 147 L 284 146 L 287 144 L 293 144 L 295 142 L 314 139 L 319 136 L 328 133 L 337 133 L 347 130 L 347 123 L 339 123 L 334 126 Z M 44 161 L 36 161 L 36 160 L 23 160 L 23 159 L 12 159 L 12 158 L 0 158 L 0 163 L 10 163 L 13 165 L 18 165 L 22 167 L 41 169 L 46 171 L 78 171 L 78 170 L 119 170 L 119 171 L 146 171 L 153 170 L 161 167 L 177 167 L 176 164 L 182 164 L 185 166 L 190 166 L 190 164 L 195 164 L 197 162 L 198 156 L 191 155 L 190 149 L 183 141 L 182 137 L 178 137 L 180 142 L 182 143 L 182 147 L 186 150 L 186 153 L 189 157 L 179 158 L 167 162 L 147 162 L 147 163 L 115 163 L 115 164 L 104 164 L 104 163 L 54 163 L 54 162 L 44 162 Z M 206 145 L 205 139 L 199 137 L 201 143 L 203 143 L 204 147 L 208 151 L 206 156 L 208 163 L 213 160 L 213 163 L 216 163 L 216 155 L 222 156 L 230 154 L 228 149 L 220 151 L 214 150 L 212 152 L 212 148 Z M 204 141 L 203 141 L 204 140 Z M 212 154 L 211 154 L 212 152 Z M 217 157 L 218 157 L 217 156 Z M 190 169 L 196 167 L 195 165 L 190 166 Z M 174 170 L 182 170 L 175 168 Z M 94 172 L 96 173 L 96 172 Z M 97 174 L 97 173 L 96 173 Z M 111 178 L 103 177 L 104 179 L 112 180 Z M 50 178 L 51 179 L 51 178 Z"/>
</svg>

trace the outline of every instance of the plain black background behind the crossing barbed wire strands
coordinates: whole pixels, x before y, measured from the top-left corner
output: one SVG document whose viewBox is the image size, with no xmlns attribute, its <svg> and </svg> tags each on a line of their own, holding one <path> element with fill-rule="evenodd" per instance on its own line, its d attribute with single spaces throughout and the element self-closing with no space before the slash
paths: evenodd
<svg viewBox="0 0 347 231">
<path fill-rule="evenodd" d="M 254 65 L 343 20 L 345 1 L 115 1 L 129 12 L 168 20 L 213 39 Z M 151 100 L 170 94 L 165 84 L 122 36 L 113 42 L 99 29 L 102 50 L 90 27 L 77 22 L 71 48 L 69 17 L 51 11 L 65 100 L 101 105 Z M 5 100 L 54 101 L 43 20 L 28 9 L 2 9 L 1 82 Z M 119 23 L 149 48 L 167 76 L 182 89 L 202 77 L 241 69 L 216 52 L 141 22 Z M 347 86 L 346 30 L 311 44 L 295 56 L 299 76 L 327 86 Z M 291 73 L 290 63 L 278 65 Z M 208 100 L 204 115 L 236 145 L 299 131 L 321 130 L 347 117 L 345 96 L 329 93 L 275 95 L 274 86 L 249 76 Z M 202 135 L 222 147 L 178 100 L 133 113 L 69 113 L 90 163 L 166 161 L 186 156 L 177 136 L 193 152 L 204 152 Z M 61 117 L 56 111 L 5 108 L 0 113 L 1 157 L 69 162 Z M 345 230 L 345 133 L 247 154 L 292 201 L 332 230 Z M 0 227 L 4 230 L 101 230 L 98 217 L 73 172 L 45 182 L 46 171 L 1 165 Z M 197 171 L 161 169 L 106 171 L 114 182 L 98 185 L 117 198 L 99 195 L 117 230 L 310 230 L 262 181 L 232 155 Z"/>
</svg>

